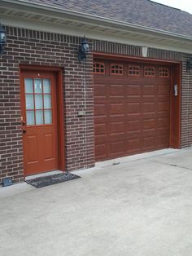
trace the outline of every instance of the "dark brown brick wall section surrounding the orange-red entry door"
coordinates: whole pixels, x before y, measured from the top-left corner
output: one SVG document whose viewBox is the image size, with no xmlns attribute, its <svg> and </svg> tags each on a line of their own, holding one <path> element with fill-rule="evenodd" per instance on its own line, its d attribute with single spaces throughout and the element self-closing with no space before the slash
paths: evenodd
<svg viewBox="0 0 192 256">
<path fill-rule="evenodd" d="M 24 179 L 20 129 L 20 64 L 63 68 L 66 170 L 94 166 L 94 103 L 92 54 L 84 64 L 77 60 L 81 38 L 28 29 L 5 28 L 7 45 L 0 57 L 0 183 Z M 78 117 L 85 108 L 86 117 Z"/>
</svg>

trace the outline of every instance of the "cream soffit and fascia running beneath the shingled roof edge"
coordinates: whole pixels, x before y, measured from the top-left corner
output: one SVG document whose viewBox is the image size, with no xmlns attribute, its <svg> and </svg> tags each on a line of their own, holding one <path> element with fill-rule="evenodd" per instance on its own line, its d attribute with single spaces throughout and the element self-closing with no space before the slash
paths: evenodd
<svg viewBox="0 0 192 256">
<path fill-rule="evenodd" d="M 3 2 L 3 1 L 2 1 Z M 55 13 L 44 9 L 0 4 L 0 22 L 3 25 L 26 29 L 38 29 L 51 33 L 119 42 L 133 46 L 148 46 L 169 51 L 192 53 L 192 38 L 168 33 L 144 31 L 125 24 L 111 24 L 82 16 Z M 15 2 L 15 1 L 14 1 Z M 18 1 L 19 2 L 19 1 Z M 42 8 L 42 7 L 41 7 Z M 19 10 L 18 10 L 19 9 Z"/>
</svg>

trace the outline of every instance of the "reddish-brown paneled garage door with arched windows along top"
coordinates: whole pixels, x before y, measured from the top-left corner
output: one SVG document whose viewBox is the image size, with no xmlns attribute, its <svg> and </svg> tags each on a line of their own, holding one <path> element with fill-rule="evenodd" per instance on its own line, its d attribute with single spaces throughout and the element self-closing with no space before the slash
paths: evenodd
<svg viewBox="0 0 192 256">
<path fill-rule="evenodd" d="M 94 61 L 96 161 L 169 147 L 169 66 Z"/>
</svg>

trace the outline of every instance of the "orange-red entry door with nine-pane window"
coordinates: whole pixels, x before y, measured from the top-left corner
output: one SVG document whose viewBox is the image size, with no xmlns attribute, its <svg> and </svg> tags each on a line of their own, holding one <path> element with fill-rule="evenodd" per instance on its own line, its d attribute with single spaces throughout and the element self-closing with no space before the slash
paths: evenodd
<svg viewBox="0 0 192 256">
<path fill-rule="evenodd" d="M 24 174 L 59 169 L 55 73 L 21 73 Z"/>
</svg>

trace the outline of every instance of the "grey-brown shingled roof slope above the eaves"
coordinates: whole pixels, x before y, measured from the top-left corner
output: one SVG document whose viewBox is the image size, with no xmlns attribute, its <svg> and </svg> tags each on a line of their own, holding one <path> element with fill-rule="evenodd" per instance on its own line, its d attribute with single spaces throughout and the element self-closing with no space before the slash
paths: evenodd
<svg viewBox="0 0 192 256">
<path fill-rule="evenodd" d="M 25 0 L 192 37 L 192 15 L 150 0 Z"/>
</svg>

